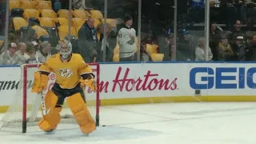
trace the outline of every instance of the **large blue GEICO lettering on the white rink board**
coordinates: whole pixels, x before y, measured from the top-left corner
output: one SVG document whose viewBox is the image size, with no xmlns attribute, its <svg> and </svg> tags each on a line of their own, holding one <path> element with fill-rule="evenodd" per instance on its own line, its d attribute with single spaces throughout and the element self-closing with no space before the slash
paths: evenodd
<svg viewBox="0 0 256 144">
<path fill-rule="evenodd" d="M 190 70 L 192 89 L 256 89 L 256 67 L 194 67 Z"/>
</svg>

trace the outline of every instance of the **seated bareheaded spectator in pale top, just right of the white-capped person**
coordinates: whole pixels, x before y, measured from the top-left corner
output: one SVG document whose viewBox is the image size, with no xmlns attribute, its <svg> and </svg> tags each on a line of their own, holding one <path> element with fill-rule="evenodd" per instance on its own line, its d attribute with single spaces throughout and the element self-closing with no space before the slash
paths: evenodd
<svg viewBox="0 0 256 144">
<path fill-rule="evenodd" d="M 30 56 L 26 54 L 26 44 L 24 42 L 18 43 L 18 50 L 15 54 L 17 55 L 20 63 L 26 63 L 26 60 L 30 58 Z"/>
</svg>

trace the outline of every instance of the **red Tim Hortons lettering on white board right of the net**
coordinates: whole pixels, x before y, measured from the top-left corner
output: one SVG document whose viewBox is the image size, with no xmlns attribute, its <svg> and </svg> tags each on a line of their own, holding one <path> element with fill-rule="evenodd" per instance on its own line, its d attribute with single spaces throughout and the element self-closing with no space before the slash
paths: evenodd
<svg viewBox="0 0 256 144">
<path fill-rule="evenodd" d="M 145 91 L 145 90 L 176 90 L 178 78 L 163 79 L 159 78 L 159 74 L 152 74 L 150 70 L 147 70 L 145 75 L 136 76 L 136 78 L 130 78 L 130 68 L 126 68 L 124 74 L 122 74 L 122 67 L 118 67 L 117 74 L 113 80 L 113 86 L 111 88 L 112 92 L 115 91 Z M 121 77 L 120 75 L 123 75 Z M 99 89 L 102 92 L 109 92 L 110 82 L 100 82 Z"/>
</svg>

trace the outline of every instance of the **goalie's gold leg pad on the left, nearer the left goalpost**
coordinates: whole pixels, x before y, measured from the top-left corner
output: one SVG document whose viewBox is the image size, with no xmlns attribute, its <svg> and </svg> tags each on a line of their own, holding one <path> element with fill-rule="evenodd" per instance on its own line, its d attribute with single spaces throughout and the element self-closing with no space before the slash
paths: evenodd
<svg viewBox="0 0 256 144">
<path fill-rule="evenodd" d="M 57 102 L 58 97 L 49 90 L 45 96 L 46 115 L 44 115 L 42 111 L 42 119 L 38 122 L 38 126 L 41 130 L 49 131 L 57 128 L 58 123 L 61 121 L 59 113 L 62 111 L 62 106 L 56 106 Z"/>
</svg>

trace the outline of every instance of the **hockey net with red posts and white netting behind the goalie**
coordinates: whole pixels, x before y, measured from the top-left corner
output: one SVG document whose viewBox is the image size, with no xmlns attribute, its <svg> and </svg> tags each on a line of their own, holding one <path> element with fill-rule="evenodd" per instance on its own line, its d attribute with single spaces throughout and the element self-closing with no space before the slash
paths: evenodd
<svg viewBox="0 0 256 144">
<path fill-rule="evenodd" d="M 97 63 L 90 64 L 90 68 L 95 75 L 95 81 L 99 86 L 99 65 Z M 42 118 L 41 110 L 41 94 L 31 93 L 31 87 L 34 82 L 34 72 L 38 71 L 38 64 L 26 64 L 21 66 L 21 79 L 18 84 L 18 90 L 14 96 L 13 102 L 10 104 L 6 114 L 0 121 L 0 129 L 4 131 L 19 131 L 26 133 L 28 126 L 37 126 L 38 121 Z M 55 75 L 49 75 L 48 89 L 54 85 Z M 99 125 L 99 92 L 92 92 L 86 88 L 86 105 L 94 118 L 96 126 Z M 76 120 L 69 106 L 64 102 L 61 112 L 61 123 L 74 123 Z"/>
</svg>

